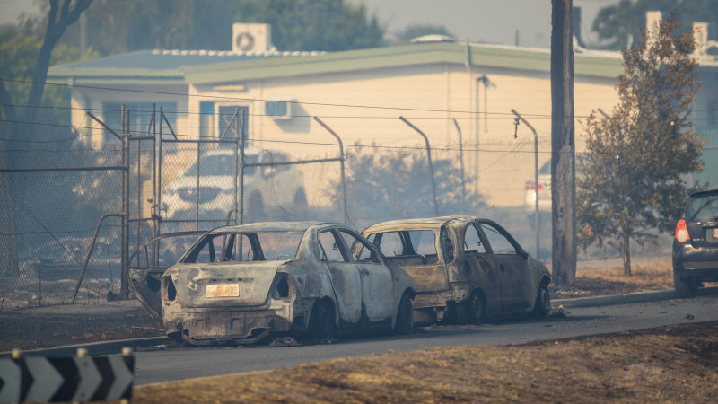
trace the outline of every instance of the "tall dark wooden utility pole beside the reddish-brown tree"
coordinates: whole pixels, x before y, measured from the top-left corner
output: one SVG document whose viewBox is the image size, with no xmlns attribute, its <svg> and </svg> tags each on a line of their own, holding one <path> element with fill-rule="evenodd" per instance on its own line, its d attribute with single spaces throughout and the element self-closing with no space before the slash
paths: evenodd
<svg viewBox="0 0 718 404">
<path fill-rule="evenodd" d="M 552 275 L 556 285 L 576 278 L 573 0 L 551 0 Z"/>
</svg>

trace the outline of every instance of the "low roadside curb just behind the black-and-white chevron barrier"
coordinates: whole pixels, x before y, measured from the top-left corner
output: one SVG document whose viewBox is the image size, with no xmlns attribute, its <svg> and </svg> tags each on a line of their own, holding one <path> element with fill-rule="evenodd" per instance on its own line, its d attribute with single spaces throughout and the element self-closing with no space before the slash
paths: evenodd
<svg viewBox="0 0 718 404">
<path fill-rule="evenodd" d="M 88 342 L 85 344 L 65 345 L 61 347 L 36 348 L 22 350 L 22 355 L 42 355 L 42 356 L 74 356 L 77 348 L 85 348 L 92 356 L 97 355 L 114 355 L 122 352 L 123 347 L 137 348 L 156 347 L 171 343 L 171 339 L 167 337 L 149 337 L 149 338 L 133 338 L 133 339 L 115 339 L 112 341 Z M 11 352 L 0 352 L 0 357 L 10 357 Z"/>
</svg>

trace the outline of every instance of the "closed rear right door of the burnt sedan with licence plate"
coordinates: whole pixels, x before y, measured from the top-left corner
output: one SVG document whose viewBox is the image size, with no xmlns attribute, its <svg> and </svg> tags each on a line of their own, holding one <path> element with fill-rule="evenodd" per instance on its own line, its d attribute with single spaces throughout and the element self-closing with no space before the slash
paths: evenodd
<svg viewBox="0 0 718 404">
<path fill-rule="evenodd" d="M 362 277 L 338 234 L 327 229 L 318 234 L 319 254 L 328 269 L 339 317 L 347 323 L 362 320 Z"/>
</svg>

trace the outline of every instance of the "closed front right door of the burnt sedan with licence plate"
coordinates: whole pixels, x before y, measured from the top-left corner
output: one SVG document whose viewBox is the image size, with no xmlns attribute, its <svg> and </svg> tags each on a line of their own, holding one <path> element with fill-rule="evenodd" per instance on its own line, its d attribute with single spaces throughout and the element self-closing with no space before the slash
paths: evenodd
<svg viewBox="0 0 718 404">
<path fill-rule="evenodd" d="M 363 237 L 345 229 L 339 229 L 346 246 L 352 251 L 359 274 L 362 277 L 364 311 L 369 321 L 390 319 L 397 312 L 394 279 L 390 269 L 381 262 L 379 252 Z"/>
</svg>

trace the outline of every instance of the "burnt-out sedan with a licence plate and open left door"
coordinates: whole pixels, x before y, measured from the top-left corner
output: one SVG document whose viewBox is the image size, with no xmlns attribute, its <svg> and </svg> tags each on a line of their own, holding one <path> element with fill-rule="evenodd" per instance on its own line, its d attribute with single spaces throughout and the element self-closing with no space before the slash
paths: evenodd
<svg viewBox="0 0 718 404">
<path fill-rule="evenodd" d="M 144 286 L 143 277 L 134 278 Z M 154 296 L 143 296 L 159 303 L 153 315 L 168 336 L 192 345 L 414 327 L 411 277 L 343 224 L 216 228 L 164 271 L 154 289 Z"/>
</svg>

